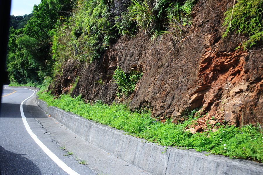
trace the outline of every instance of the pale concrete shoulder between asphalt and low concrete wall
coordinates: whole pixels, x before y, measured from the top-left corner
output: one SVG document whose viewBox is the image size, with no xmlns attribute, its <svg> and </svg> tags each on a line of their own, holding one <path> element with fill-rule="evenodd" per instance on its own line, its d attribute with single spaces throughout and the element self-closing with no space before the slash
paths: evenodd
<svg viewBox="0 0 263 175">
<path fill-rule="evenodd" d="M 26 105 L 31 115 L 34 116 L 48 134 L 59 146 L 73 153 L 71 156 L 77 160 L 85 160 L 86 165 L 98 174 L 126 174 L 144 175 L 149 174 L 132 164 L 119 159 L 88 143 L 86 140 L 73 133 L 54 118 L 49 117 L 35 103 L 36 96 L 26 101 Z M 66 151 L 65 151 L 66 153 Z M 76 158 L 77 157 L 77 158 Z M 76 160 L 76 162 L 77 162 Z"/>
</svg>

